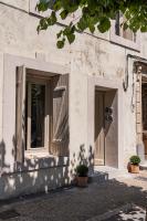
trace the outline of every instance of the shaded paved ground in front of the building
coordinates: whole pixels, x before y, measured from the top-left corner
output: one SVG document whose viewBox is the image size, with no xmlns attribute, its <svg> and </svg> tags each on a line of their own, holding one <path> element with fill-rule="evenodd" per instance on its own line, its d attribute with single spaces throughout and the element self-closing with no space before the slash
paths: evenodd
<svg viewBox="0 0 147 221">
<path fill-rule="evenodd" d="M 145 220 L 147 171 L 103 183 L 91 183 L 84 189 L 72 188 L 20 200 L 2 206 L 0 211 L 13 210 L 18 212 L 18 217 L 4 219 L 7 221 L 98 221 L 99 215 L 116 210 L 120 212 L 120 207 L 130 203 L 134 203 L 141 211 L 140 215 L 138 212 L 137 219 Z M 105 220 L 111 221 L 112 219 L 114 221 L 136 220 L 134 211 L 129 213 L 129 218 L 115 215 Z"/>
</svg>

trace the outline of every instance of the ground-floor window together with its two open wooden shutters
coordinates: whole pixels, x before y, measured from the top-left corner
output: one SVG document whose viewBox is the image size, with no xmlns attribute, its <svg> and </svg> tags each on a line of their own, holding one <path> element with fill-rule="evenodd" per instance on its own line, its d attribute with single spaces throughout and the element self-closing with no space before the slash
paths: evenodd
<svg viewBox="0 0 147 221">
<path fill-rule="evenodd" d="M 69 156 L 69 74 L 36 72 L 23 66 L 17 72 L 15 149 L 21 162 L 24 151 Z"/>
</svg>

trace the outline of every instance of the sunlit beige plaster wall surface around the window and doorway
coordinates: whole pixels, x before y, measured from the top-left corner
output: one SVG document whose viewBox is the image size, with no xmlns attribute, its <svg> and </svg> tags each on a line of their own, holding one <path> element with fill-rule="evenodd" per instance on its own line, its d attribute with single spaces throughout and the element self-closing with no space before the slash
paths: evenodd
<svg viewBox="0 0 147 221">
<path fill-rule="evenodd" d="M 0 3 L 0 138 L 2 140 L 2 130 L 7 137 L 6 143 L 6 162 L 13 167 L 14 158 L 12 156 L 12 133 L 8 134 L 7 129 L 14 131 L 14 125 L 4 123 L 2 117 L 2 87 L 3 87 L 3 54 L 9 53 L 18 56 L 25 56 L 35 60 L 35 54 L 40 53 L 45 57 L 46 62 L 61 64 L 71 70 L 70 73 L 70 172 L 74 171 L 76 160 L 80 160 L 80 152 L 84 152 L 87 158 L 90 146 L 93 144 L 94 133 L 88 124 L 93 118 L 93 91 L 90 90 L 88 80 L 91 77 L 99 77 L 101 82 L 108 87 L 109 82 L 115 85 L 118 81 L 119 93 L 122 94 L 123 108 L 119 105 L 118 117 L 118 133 L 123 137 L 118 139 L 118 161 L 119 165 L 127 162 L 132 154 L 136 151 L 136 125 L 135 125 L 135 110 L 132 109 L 133 97 L 133 61 L 129 60 L 129 87 L 127 92 L 123 92 L 123 78 L 125 76 L 126 54 L 138 54 L 136 51 L 128 50 L 122 45 L 111 43 L 109 33 L 102 34 L 94 38 L 91 34 L 77 34 L 76 41 L 72 45 L 65 45 L 64 49 L 56 49 L 55 34 L 61 30 L 60 25 L 49 29 L 45 32 L 36 33 L 36 25 L 39 18 L 29 14 L 29 0 L 3 0 Z M 13 6 L 13 7 L 10 7 Z M 15 7 L 18 9 L 15 9 Z M 19 10 L 22 9 L 22 10 Z M 146 34 L 143 35 L 140 46 L 140 54 L 146 56 L 147 50 L 145 42 L 147 41 Z M 10 73 L 11 83 L 9 86 L 12 88 L 14 76 Z M 98 85 L 96 81 L 95 85 Z M 4 81 L 6 82 L 6 81 Z M 102 85 L 103 85 L 102 84 Z M 6 85 L 7 87 L 7 85 Z M 8 90 L 8 92 L 11 91 Z M 115 88 L 115 86 L 113 87 Z M 14 104 L 14 94 L 8 93 L 11 96 L 12 106 Z M 118 97 L 119 99 L 119 97 Z M 91 101 L 91 104 L 88 103 Z M 92 108 L 90 108 L 92 106 Z M 11 109 L 11 120 L 14 122 L 14 108 Z M 91 114 L 91 117 L 90 117 Z M 10 115 L 10 109 L 4 113 Z M 93 125 L 93 124 L 92 124 Z M 10 128 L 9 128 L 10 127 Z M 92 126 L 93 127 L 93 126 Z M 10 145 L 11 144 L 11 145 Z M 9 145 L 9 149 L 7 148 Z M 126 164 L 125 164 L 126 165 Z"/>
</svg>

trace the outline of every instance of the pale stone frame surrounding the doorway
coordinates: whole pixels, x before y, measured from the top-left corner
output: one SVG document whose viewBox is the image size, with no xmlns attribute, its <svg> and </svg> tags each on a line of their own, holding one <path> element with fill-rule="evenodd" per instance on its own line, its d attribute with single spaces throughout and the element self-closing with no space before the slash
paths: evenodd
<svg viewBox="0 0 147 221">
<path fill-rule="evenodd" d="M 106 76 L 88 76 L 88 97 L 87 97 L 87 147 L 90 151 L 90 158 L 92 158 L 93 164 L 93 154 L 94 154 L 94 103 L 95 103 L 95 90 L 102 88 L 104 91 L 115 90 L 117 97 L 117 158 L 115 165 L 112 167 L 124 169 L 124 126 L 123 120 L 123 86 L 122 80 L 115 78 L 109 80 Z M 109 166 L 109 165 L 106 165 Z"/>
</svg>

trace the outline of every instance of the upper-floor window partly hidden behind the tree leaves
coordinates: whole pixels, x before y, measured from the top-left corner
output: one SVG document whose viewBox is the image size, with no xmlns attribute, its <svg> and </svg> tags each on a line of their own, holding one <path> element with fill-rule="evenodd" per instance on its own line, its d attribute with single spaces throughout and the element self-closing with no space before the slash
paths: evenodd
<svg viewBox="0 0 147 221">
<path fill-rule="evenodd" d="M 124 39 L 127 39 L 129 41 L 136 42 L 136 33 L 134 33 L 130 29 L 124 30 L 124 25 L 123 25 L 124 22 L 125 22 L 125 18 L 123 13 L 118 12 L 116 14 L 116 20 L 115 20 L 115 34 Z"/>
</svg>

